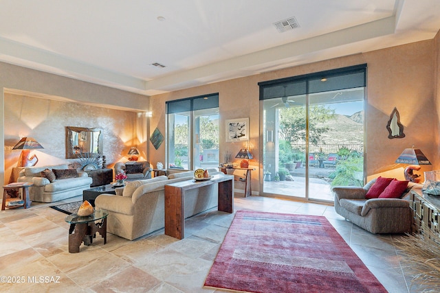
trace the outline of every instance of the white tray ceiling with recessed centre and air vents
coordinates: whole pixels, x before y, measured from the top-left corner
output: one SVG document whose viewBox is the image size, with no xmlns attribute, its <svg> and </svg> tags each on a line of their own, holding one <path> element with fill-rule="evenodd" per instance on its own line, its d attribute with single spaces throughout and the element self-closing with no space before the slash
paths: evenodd
<svg viewBox="0 0 440 293">
<path fill-rule="evenodd" d="M 292 16 L 300 27 L 279 33 Z M 0 60 L 155 95 L 439 29 L 439 0 L 0 0 Z"/>
</svg>

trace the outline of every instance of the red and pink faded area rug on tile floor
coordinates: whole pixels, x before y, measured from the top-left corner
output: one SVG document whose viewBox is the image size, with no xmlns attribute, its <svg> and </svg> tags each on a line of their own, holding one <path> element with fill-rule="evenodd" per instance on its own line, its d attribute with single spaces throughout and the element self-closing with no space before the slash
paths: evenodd
<svg viewBox="0 0 440 293">
<path fill-rule="evenodd" d="M 321 216 L 237 211 L 205 281 L 243 292 L 386 292 Z"/>
</svg>

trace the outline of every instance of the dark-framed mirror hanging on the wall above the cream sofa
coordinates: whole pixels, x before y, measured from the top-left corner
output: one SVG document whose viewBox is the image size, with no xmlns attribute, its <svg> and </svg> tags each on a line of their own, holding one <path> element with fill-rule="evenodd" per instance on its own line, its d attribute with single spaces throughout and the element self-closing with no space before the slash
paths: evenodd
<svg viewBox="0 0 440 293">
<path fill-rule="evenodd" d="M 99 128 L 66 127 L 66 158 L 77 159 L 81 154 L 102 156 L 102 130 Z"/>
</svg>

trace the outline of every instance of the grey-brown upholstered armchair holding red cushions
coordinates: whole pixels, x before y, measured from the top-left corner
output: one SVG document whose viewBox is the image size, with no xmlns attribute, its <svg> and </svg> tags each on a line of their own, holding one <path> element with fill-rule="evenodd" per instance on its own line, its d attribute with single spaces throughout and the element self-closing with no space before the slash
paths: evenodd
<svg viewBox="0 0 440 293">
<path fill-rule="evenodd" d="M 414 231 L 409 191 L 422 185 L 408 183 L 399 198 L 366 198 L 377 179 L 364 187 L 333 187 L 336 213 L 374 234 Z"/>
</svg>

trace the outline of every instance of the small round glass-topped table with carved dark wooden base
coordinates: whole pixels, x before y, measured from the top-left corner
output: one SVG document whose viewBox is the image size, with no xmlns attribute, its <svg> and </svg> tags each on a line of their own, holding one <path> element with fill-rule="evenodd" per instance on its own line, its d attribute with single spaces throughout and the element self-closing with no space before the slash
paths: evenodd
<svg viewBox="0 0 440 293">
<path fill-rule="evenodd" d="M 81 243 L 89 246 L 96 238 L 96 232 L 107 242 L 107 215 L 108 211 L 103 209 L 95 210 L 86 217 L 72 213 L 67 215 L 65 221 L 70 224 L 69 228 L 69 253 L 79 253 Z M 99 222 L 98 222 L 99 221 Z"/>
</svg>

